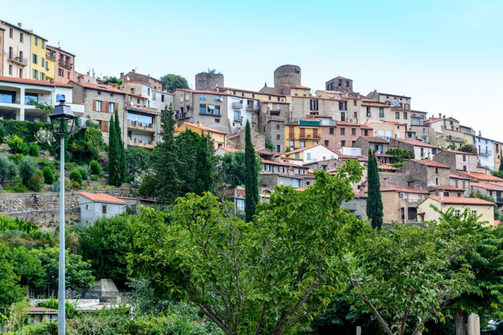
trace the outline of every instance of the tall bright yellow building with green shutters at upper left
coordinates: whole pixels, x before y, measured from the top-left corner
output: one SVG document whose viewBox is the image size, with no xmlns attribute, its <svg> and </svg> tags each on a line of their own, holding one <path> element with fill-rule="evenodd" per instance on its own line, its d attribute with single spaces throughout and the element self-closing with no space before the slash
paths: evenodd
<svg viewBox="0 0 503 335">
<path fill-rule="evenodd" d="M 31 78 L 39 80 L 54 79 L 56 57 L 46 49 L 47 40 L 31 35 Z"/>
</svg>

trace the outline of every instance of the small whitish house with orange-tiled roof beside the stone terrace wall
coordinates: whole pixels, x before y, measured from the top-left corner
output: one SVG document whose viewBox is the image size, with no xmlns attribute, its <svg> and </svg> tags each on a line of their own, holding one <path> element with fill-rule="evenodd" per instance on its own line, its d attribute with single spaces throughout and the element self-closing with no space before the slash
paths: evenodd
<svg viewBox="0 0 503 335">
<path fill-rule="evenodd" d="M 101 216 L 112 217 L 126 211 L 126 201 L 102 193 L 78 192 L 80 222 L 91 225 Z"/>
</svg>

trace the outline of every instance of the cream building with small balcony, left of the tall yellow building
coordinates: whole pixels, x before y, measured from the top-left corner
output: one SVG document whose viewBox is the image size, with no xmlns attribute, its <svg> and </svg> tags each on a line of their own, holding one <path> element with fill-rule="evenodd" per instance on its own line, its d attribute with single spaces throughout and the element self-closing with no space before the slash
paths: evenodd
<svg viewBox="0 0 503 335">
<path fill-rule="evenodd" d="M 2 76 L 32 78 L 31 32 L 22 29 L 21 23 L 13 25 L 0 20 L 2 38 Z M 36 78 L 38 79 L 38 78 Z"/>
</svg>

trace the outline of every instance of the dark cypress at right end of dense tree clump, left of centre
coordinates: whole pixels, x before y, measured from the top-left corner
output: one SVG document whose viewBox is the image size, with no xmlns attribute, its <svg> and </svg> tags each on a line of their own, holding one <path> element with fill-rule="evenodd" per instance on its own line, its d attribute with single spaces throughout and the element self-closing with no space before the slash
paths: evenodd
<svg viewBox="0 0 503 335">
<path fill-rule="evenodd" d="M 201 133 L 201 140 L 196 154 L 196 182 L 194 191 L 196 194 L 212 191 L 215 183 L 213 173 L 211 138 L 209 134 Z M 212 146 L 213 147 L 213 146 Z"/>
</svg>

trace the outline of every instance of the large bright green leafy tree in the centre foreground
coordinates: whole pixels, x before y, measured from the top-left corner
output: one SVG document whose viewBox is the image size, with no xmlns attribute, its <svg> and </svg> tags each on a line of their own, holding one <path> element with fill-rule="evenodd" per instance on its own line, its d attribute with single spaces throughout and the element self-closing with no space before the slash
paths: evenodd
<svg viewBox="0 0 503 335">
<path fill-rule="evenodd" d="M 357 250 L 364 221 L 340 208 L 362 176 L 355 161 L 335 176 L 315 171 L 303 192 L 277 186 L 246 224 L 211 193 L 177 199 L 166 215 L 141 210 L 130 274 L 155 294 L 188 299 L 226 334 L 285 334 L 345 289 L 343 255 Z M 322 204 L 322 205 L 320 205 Z"/>
</svg>

